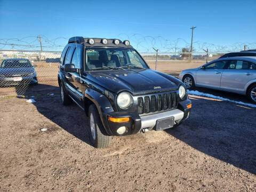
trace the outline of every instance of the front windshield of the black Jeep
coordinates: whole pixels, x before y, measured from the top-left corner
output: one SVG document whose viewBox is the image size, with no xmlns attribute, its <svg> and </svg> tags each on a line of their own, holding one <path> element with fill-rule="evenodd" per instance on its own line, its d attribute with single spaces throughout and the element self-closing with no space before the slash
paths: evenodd
<svg viewBox="0 0 256 192">
<path fill-rule="evenodd" d="M 85 59 L 85 70 L 148 69 L 140 55 L 130 48 L 93 47 L 86 49 Z"/>
</svg>

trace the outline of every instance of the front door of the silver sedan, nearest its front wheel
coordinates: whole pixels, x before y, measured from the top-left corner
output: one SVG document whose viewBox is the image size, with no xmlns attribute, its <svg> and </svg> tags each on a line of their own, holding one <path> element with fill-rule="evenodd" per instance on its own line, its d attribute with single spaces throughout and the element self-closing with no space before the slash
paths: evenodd
<svg viewBox="0 0 256 192">
<path fill-rule="evenodd" d="M 204 65 L 196 72 L 197 86 L 220 89 L 220 79 L 226 60 L 219 60 Z"/>
</svg>

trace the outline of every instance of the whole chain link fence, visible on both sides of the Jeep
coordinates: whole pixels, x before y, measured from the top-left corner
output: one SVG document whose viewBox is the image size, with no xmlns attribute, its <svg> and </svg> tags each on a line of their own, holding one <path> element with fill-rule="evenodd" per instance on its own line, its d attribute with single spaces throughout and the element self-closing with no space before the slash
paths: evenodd
<svg viewBox="0 0 256 192">
<path fill-rule="evenodd" d="M 176 77 L 181 70 L 202 66 L 206 59 L 222 54 L 192 53 L 190 60 L 189 53 L 141 53 L 151 69 Z M 57 93 L 60 56 L 61 51 L 0 50 L 0 97 Z"/>
</svg>

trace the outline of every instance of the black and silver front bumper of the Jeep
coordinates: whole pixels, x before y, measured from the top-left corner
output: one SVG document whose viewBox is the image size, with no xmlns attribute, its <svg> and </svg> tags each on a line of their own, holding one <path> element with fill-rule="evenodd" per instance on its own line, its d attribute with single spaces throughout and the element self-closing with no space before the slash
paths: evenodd
<svg viewBox="0 0 256 192">
<path fill-rule="evenodd" d="M 103 123 L 109 135 L 119 135 L 117 129 L 126 126 L 127 131 L 123 135 L 135 134 L 140 131 L 154 129 L 157 119 L 174 117 L 174 125 L 178 125 L 189 117 L 191 108 L 187 106 L 191 103 L 189 99 L 179 102 L 178 108 L 161 113 L 139 116 L 137 111 L 113 111 L 105 115 Z M 108 117 L 122 118 L 129 117 L 129 122 L 114 123 Z M 120 136 L 120 135 L 119 135 Z"/>
</svg>

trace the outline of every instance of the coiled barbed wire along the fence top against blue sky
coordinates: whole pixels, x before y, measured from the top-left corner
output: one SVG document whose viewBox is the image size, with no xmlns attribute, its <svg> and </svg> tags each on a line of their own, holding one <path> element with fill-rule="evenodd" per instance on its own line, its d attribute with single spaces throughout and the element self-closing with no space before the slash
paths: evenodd
<svg viewBox="0 0 256 192">
<path fill-rule="evenodd" d="M 45 35 L 40 35 L 42 38 L 42 49 L 47 51 L 62 51 L 67 44 L 68 37 L 57 37 L 49 39 Z M 182 52 L 182 48 L 190 50 L 190 42 L 186 39 L 166 39 L 162 36 L 144 36 L 141 34 L 119 34 L 119 39 L 128 39 L 131 45 L 140 52 L 154 52 L 158 49 L 160 52 Z M 209 49 L 210 52 L 234 52 L 244 50 L 244 45 L 247 49 L 255 49 L 255 42 L 238 42 L 230 45 L 217 45 L 213 43 L 205 43 L 201 41 L 193 42 L 193 52 L 202 52 Z M 27 36 L 23 38 L 0 38 L 0 49 L 10 50 L 40 50 L 41 46 L 38 41 L 38 36 Z"/>
</svg>

